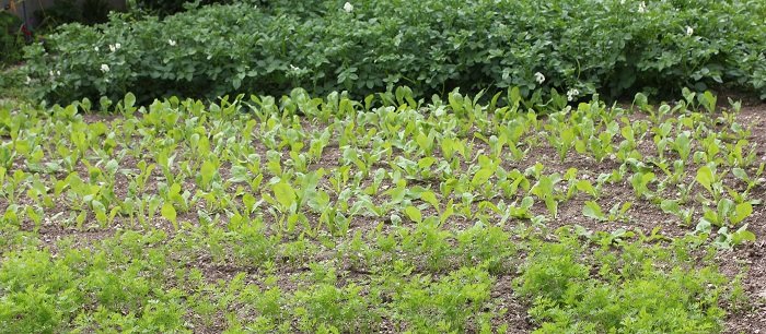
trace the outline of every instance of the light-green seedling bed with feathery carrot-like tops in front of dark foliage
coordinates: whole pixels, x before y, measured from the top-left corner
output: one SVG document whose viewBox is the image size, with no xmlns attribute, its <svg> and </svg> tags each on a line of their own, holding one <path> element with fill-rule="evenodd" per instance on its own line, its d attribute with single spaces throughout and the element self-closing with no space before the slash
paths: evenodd
<svg viewBox="0 0 766 334">
<path fill-rule="evenodd" d="M 0 329 L 759 329 L 757 112 L 480 95 L 0 103 Z"/>
</svg>

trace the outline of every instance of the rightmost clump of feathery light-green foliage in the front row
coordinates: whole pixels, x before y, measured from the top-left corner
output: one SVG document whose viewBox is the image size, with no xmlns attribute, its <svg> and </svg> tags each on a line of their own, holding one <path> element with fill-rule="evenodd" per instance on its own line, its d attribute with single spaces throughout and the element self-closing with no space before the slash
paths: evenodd
<svg viewBox="0 0 766 334">
<path fill-rule="evenodd" d="M 519 278 L 520 293 L 534 303 L 536 333 L 721 330 L 717 301 L 728 278 L 715 269 L 640 270 L 639 259 L 662 261 L 663 251 L 628 244 L 622 255 L 599 259 L 599 274 L 607 278 L 600 281 L 589 275 L 571 242 L 542 246 Z M 620 258 L 625 264 L 616 261 Z"/>
</svg>

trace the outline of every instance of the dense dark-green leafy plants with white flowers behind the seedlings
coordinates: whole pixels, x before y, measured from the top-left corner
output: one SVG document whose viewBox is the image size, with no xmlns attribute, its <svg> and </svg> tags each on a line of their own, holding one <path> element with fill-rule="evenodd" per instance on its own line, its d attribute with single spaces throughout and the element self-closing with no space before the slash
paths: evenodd
<svg viewBox="0 0 766 334">
<path fill-rule="evenodd" d="M 555 87 L 576 97 L 723 83 L 766 98 L 759 0 L 300 4 L 211 5 L 164 20 L 115 15 L 96 27 L 67 25 L 27 49 L 30 76 L 55 102 L 126 92 L 281 94 L 294 86 L 365 94 L 394 84 L 416 94 Z"/>
</svg>

